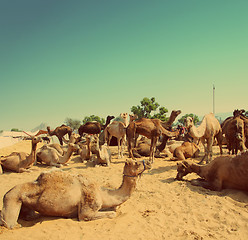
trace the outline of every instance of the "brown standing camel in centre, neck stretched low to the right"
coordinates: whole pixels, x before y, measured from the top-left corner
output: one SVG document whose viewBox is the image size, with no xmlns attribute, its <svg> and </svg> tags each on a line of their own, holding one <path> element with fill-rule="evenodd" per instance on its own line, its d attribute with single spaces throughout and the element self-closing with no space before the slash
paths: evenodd
<svg viewBox="0 0 248 240">
<path fill-rule="evenodd" d="M 154 160 L 154 151 L 157 144 L 158 137 L 162 135 L 166 135 L 168 137 L 176 137 L 178 136 L 178 131 L 176 132 L 170 132 L 162 127 L 162 121 L 159 119 L 148 119 L 148 118 L 141 118 L 137 121 L 135 121 L 134 125 L 128 126 L 128 132 L 129 137 L 128 141 L 131 141 L 128 143 L 129 147 L 129 154 L 134 159 L 133 156 L 133 143 L 135 139 L 135 134 L 143 135 L 149 139 L 151 139 L 151 146 L 150 146 L 150 161 L 153 162 Z"/>
</svg>

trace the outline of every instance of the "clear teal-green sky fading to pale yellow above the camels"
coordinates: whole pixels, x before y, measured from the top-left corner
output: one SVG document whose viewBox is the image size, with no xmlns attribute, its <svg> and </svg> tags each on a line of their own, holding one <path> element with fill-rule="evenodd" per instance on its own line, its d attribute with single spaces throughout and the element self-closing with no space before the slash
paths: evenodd
<svg viewBox="0 0 248 240">
<path fill-rule="evenodd" d="M 248 110 L 247 0 L 0 0 L 0 130 Z M 180 116 L 179 116 L 180 117 Z"/>
</svg>

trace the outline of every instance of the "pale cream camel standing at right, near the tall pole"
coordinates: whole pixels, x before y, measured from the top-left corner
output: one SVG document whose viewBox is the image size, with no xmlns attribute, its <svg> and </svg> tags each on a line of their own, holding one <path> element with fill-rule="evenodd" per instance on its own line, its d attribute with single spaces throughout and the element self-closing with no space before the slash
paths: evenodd
<svg viewBox="0 0 248 240">
<path fill-rule="evenodd" d="M 220 147 L 220 154 L 222 154 L 222 130 L 219 121 L 215 118 L 213 113 L 206 114 L 199 127 L 196 127 L 193 119 L 188 116 L 185 119 L 185 126 L 191 137 L 194 139 L 200 138 L 205 148 L 205 155 L 199 164 L 202 163 L 205 158 L 206 163 L 212 160 L 212 147 L 215 137 Z M 205 146 L 205 140 L 207 141 L 207 146 Z"/>
</svg>

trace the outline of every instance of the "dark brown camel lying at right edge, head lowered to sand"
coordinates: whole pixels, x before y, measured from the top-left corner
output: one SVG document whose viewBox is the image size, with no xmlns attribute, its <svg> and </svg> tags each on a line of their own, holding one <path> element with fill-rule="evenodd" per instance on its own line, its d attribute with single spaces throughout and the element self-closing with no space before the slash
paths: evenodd
<svg viewBox="0 0 248 240">
<path fill-rule="evenodd" d="M 206 165 L 183 161 L 177 164 L 177 180 L 182 180 L 189 173 L 196 173 L 204 181 L 193 180 L 193 185 L 215 191 L 224 188 L 248 191 L 248 152 L 235 157 L 220 156 Z"/>
</svg>

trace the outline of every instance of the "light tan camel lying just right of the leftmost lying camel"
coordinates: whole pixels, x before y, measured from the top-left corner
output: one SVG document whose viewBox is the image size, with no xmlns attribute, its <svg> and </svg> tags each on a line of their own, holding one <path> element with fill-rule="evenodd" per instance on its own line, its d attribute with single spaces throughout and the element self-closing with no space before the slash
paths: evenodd
<svg viewBox="0 0 248 240">
<path fill-rule="evenodd" d="M 36 157 L 38 162 L 45 163 L 49 166 L 61 167 L 68 163 L 73 152 L 78 149 L 78 145 L 69 143 L 66 153 L 61 155 L 55 148 L 44 145 L 37 151 Z"/>
</svg>

